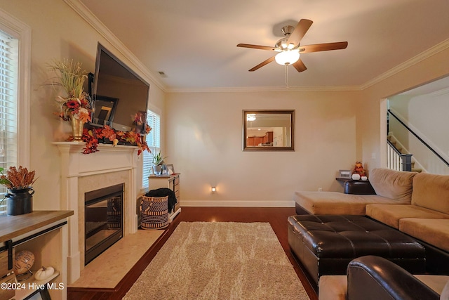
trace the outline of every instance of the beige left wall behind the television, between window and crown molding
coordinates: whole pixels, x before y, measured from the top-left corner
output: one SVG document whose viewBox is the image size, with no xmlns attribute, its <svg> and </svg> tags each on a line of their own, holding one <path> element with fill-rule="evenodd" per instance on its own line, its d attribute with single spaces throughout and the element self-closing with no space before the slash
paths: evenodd
<svg viewBox="0 0 449 300">
<path fill-rule="evenodd" d="M 54 141 L 63 141 L 70 133 L 67 122 L 62 122 L 53 112 L 57 94 L 46 86 L 51 72 L 48 63 L 53 59 L 70 58 L 82 63 L 83 69 L 95 72 L 97 44 L 112 51 L 128 66 L 151 84 L 150 101 L 163 103 L 163 93 L 151 79 L 142 74 L 131 60 L 119 53 L 96 30 L 88 25 L 64 1 L 11 1 L 0 0 L 0 9 L 32 28 L 31 70 L 31 157 L 29 169 L 36 170 L 34 184 L 34 209 L 60 209 L 60 162 Z M 163 105 L 160 105 L 163 109 Z M 91 154 L 91 155 L 95 155 Z"/>
</svg>

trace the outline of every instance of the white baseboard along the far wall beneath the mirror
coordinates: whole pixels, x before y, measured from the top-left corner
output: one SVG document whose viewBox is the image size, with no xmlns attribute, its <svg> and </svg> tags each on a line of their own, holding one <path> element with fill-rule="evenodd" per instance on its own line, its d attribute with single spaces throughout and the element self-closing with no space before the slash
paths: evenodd
<svg viewBox="0 0 449 300">
<path fill-rule="evenodd" d="M 181 201 L 181 207 L 295 207 L 294 201 Z"/>
</svg>

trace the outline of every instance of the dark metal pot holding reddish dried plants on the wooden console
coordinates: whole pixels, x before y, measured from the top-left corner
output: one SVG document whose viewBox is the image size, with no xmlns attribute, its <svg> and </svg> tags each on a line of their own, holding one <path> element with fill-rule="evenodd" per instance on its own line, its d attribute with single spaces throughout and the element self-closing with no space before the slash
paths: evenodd
<svg viewBox="0 0 449 300">
<path fill-rule="evenodd" d="M 6 214 L 17 216 L 19 214 L 29 214 L 33 211 L 33 188 L 21 188 L 18 190 L 8 190 L 5 195 Z"/>
</svg>

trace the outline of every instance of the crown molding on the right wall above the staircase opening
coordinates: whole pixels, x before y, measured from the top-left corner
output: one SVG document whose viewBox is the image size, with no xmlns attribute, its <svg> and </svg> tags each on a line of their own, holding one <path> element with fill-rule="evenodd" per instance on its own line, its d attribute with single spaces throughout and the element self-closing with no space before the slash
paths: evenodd
<svg viewBox="0 0 449 300">
<path fill-rule="evenodd" d="M 426 60 L 427 58 L 434 56 L 436 53 L 444 51 L 447 48 L 449 48 L 449 39 L 445 39 L 444 41 L 441 41 L 441 43 L 436 44 L 435 46 L 427 49 L 426 51 L 418 54 L 417 56 L 415 56 L 413 58 L 410 58 L 409 60 L 406 60 L 404 63 L 401 63 L 400 65 L 393 67 L 392 69 L 388 70 L 387 72 L 384 72 L 383 74 L 380 74 L 379 76 L 374 77 L 373 79 L 366 82 L 365 84 L 362 84 L 361 90 L 368 89 L 370 86 L 378 84 L 380 81 L 383 81 L 395 74 L 398 74 L 399 72 L 406 70 L 408 67 L 412 67 L 413 65 L 416 65 L 417 63 L 422 62 L 422 60 Z"/>
</svg>

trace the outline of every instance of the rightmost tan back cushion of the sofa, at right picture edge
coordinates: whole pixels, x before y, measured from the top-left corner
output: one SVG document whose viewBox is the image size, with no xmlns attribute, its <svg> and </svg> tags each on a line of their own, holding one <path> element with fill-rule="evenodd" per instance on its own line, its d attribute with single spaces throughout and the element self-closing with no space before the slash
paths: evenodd
<svg viewBox="0 0 449 300">
<path fill-rule="evenodd" d="M 413 178 L 412 204 L 449 214 L 449 175 L 417 174 Z"/>
</svg>

